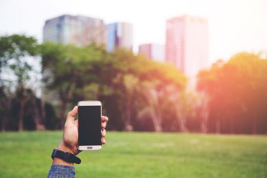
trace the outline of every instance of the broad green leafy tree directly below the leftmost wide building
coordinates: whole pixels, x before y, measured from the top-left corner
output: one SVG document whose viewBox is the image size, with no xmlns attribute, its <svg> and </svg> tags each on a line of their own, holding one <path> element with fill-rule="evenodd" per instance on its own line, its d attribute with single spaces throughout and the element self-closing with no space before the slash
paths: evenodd
<svg viewBox="0 0 267 178">
<path fill-rule="evenodd" d="M 50 91 L 54 91 L 61 102 L 60 118 L 62 124 L 68 103 L 75 104 L 79 91 L 98 81 L 101 60 L 104 58 L 103 47 L 95 44 L 86 47 L 62 45 L 46 42 L 41 46 L 43 81 Z M 82 98 L 82 94 L 79 94 Z"/>
</svg>

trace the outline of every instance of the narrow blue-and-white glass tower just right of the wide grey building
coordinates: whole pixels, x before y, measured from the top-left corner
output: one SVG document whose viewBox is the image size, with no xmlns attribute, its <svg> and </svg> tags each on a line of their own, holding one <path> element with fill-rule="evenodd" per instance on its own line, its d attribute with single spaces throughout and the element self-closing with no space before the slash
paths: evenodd
<svg viewBox="0 0 267 178">
<path fill-rule="evenodd" d="M 133 25 L 125 22 L 116 22 L 107 25 L 107 51 L 115 48 L 133 48 Z"/>
</svg>

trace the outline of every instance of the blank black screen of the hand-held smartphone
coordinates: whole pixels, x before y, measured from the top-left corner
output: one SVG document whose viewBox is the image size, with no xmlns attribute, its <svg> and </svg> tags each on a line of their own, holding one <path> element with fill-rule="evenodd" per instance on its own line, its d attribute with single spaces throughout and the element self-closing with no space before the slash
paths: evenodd
<svg viewBox="0 0 267 178">
<path fill-rule="evenodd" d="M 101 106 L 78 107 L 78 144 L 101 145 Z"/>
</svg>

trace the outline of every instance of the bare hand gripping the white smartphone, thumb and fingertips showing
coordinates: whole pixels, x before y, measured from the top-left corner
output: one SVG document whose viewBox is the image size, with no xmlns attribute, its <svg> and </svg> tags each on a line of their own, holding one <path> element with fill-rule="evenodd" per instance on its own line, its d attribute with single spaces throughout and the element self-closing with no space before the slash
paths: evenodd
<svg viewBox="0 0 267 178">
<path fill-rule="evenodd" d="M 75 115 L 78 113 L 78 107 L 75 106 L 72 111 L 70 111 L 67 115 L 67 120 L 64 126 L 64 134 L 63 138 L 60 142 L 60 145 L 58 145 L 57 149 L 63 152 L 69 152 L 74 155 L 79 154 L 81 151 L 78 150 L 77 144 L 78 144 L 78 120 L 74 121 Z M 106 124 L 108 121 L 108 117 L 102 116 L 102 144 L 106 143 L 105 136 L 106 136 Z"/>
</svg>

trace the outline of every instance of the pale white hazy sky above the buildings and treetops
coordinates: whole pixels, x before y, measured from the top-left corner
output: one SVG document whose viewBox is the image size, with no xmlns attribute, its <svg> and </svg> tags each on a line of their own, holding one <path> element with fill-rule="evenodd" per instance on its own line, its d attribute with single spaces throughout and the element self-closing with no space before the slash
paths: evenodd
<svg viewBox="0 0 267 178">
<path fill-rule="evenodd" d="M 101 18 L 134 26 L 134 52 L 143 43 L 165 44 L 166 20 L 184 14 L 209 20 L 209 62 L 235 53 L 267 51 L 265 0 L 0 0 L 0 35 L 35 36 L 42 42 L 45 20 L 63 14 Z"/>
</svg>

